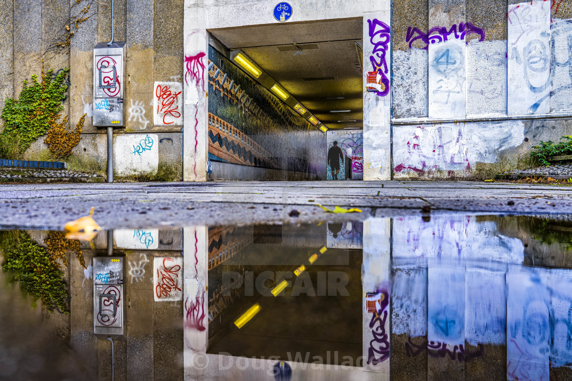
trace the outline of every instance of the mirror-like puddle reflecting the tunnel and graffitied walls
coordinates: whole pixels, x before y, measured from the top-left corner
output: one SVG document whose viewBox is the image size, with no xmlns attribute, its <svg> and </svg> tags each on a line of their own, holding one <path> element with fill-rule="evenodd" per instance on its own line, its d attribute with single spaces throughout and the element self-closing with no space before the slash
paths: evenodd
<svg viewBox="0 0 572 381">
<path fill-rule="evenodd" d="M 572 377 L 570 216 L 4 231 L 0 248 L 2 284 L 102 379 Z"/>
</svg>

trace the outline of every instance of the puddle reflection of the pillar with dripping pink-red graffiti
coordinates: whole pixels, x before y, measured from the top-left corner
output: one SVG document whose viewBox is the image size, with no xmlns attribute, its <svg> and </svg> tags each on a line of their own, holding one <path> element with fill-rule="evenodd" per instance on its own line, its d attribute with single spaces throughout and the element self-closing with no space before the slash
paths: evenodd
<svg viewBox="0 0 572 381">
<path fill-rule="evenodd" d="M 204 376 L 208 365 L 208 242 L 208 227 L 184 228 L 183 354 L 189 379 Z"/>
</svg>

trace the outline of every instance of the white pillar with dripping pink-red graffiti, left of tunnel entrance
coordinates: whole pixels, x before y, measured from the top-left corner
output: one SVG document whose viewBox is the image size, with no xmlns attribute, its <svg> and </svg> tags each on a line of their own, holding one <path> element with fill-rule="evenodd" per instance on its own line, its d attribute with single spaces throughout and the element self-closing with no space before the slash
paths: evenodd
<svg viewBox="0 0 572 381">
<path fill-rule="evenodd" d="M 185 1 L 183 179 L 206 181 L 208 155 L 208 38 L 204 7 Z"/>
</svg>

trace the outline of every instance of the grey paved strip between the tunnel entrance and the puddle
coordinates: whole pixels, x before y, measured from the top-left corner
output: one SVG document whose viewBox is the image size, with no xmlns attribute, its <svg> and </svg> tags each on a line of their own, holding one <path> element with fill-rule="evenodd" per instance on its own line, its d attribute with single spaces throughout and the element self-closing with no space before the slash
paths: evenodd
<svg viewBox="0 0 572 381">
<path fill-rule="evenodd" d="M 569 186 L 483 182 L 207 182 L 0 185 L 0 227 L 104 229 L 363 220 L 438 212 L 572 214 Z M 324 206 L 359 207 L 329 214 Z M 289 216 L 293 209 L 300 212 Z"/>
</svg>

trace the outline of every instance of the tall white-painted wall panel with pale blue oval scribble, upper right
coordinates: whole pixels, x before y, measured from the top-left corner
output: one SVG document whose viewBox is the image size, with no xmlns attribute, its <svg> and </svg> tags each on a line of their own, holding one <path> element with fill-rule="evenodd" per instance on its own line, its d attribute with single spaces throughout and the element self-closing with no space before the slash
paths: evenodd
<svg viewBox="0 0 572 381">
<path fill-rule="evenodd" d="M 509 5 L 508 114 L 550 111 L 550 2 Z"/>
</svg>

